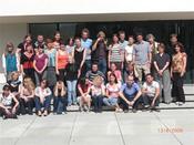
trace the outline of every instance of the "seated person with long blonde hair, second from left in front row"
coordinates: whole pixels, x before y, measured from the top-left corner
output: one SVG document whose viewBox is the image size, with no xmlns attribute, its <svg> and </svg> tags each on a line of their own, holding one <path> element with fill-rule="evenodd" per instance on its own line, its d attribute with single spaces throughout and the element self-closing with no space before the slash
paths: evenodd
<svg viewBox="0 0 194 145">
<path fill-rule="evenodd" d="M 20 113 L 32 115 L 34 105 L 34 83 L 31 77 L 24 77 L 20 90 Z"/>
</svg>

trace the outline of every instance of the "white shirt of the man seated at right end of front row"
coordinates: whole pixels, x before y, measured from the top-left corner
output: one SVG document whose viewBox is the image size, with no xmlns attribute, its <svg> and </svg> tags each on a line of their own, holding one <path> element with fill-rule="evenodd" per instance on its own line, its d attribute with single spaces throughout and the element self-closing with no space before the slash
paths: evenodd
<svg viewBox="0 0 194 145">
<path fill-rule="evenodd" d="M 156 81 L 153 81 L 152 84 L 147 84 L 146 82 L 143 84 L 143 89 L 145 89 L 149 93 L 146 95 L 149 96 L 155 96 L 156 89 L 160 89 L 160 85 Z"/>
</svg>

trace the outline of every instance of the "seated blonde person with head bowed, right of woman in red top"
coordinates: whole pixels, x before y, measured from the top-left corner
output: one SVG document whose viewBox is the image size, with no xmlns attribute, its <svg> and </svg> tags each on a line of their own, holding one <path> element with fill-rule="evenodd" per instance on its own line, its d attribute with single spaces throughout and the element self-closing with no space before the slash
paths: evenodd
<svg viewBox="0 0 194 145">
<path fill-rule="evenodd" d="M 94 112 L 102 112 L 103 96 L 105 95 L 105 86 L 101 76 L 93 79 L 93 85 L 91 86 L 92 101 L 94 103 Z"/>
</svg>

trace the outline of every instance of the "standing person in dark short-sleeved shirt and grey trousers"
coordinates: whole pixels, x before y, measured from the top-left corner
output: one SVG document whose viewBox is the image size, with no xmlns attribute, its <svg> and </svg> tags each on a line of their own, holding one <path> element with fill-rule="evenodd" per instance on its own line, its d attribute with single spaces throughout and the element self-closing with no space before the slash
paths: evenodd
<svg viewBox="0 0 194 145">
<path fill-rule="evenodd" d="M 154 66 L 156 73 L 156 79 L 160 83 L 160 102 L 170 104 L 172 102 L 171 97 L 171 75 L 170 75 L 170 62 L 171 58 L 165 53 L 165 45 L 163 43 L 159 44 L 159 53 L 154 56 Z M 162 92 L 163 96 L 162 97 Z"/>
</svg>

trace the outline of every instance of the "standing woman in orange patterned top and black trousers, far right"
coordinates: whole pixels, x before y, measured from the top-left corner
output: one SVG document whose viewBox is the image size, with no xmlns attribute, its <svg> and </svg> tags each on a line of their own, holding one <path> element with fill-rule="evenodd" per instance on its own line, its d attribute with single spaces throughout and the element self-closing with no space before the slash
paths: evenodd
<svg viewBox="0 0 194 145">
<path fill-rule="evenodd" d="M 174 54 L 172 55 L 171 65 L 171 77 L 173 81 L 172 96 L 175 99 L 177 105 L 183 105 L 185 103 L 183 77 L 186 72 L 186 59 L 187 55 L 184 52 L 183 44 L 177 42 L 174 48 Z"/>
</svg>

